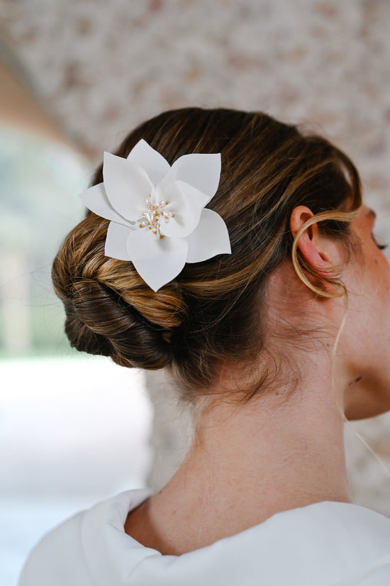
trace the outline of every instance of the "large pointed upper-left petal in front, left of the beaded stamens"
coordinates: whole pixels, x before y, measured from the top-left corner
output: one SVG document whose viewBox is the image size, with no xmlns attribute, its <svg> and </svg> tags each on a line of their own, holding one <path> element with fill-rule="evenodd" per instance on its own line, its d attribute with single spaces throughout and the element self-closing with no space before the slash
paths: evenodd
<svg viewBox="0 0 390 586">
<path fill-rule="evenodd" d="M 145 200 L 153 189 L 145 170 L 127 159 L 104 153 L 103 177 L 113 209 L 126 220 L 137 220 L 145 211 Z"/>
</svg>

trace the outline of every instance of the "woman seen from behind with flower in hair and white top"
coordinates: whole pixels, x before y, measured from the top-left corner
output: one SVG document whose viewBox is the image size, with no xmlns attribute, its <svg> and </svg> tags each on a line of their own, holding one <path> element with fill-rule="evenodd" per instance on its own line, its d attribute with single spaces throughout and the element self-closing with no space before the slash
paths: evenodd
<svg viewBox="0 0 390 586">
<path fill-rule="evenodd" d="M 170 369 L 196 433 L 160 492 L 66 521 L 20 585 L 388 585 L 390 520 L 351 503 L 343 446 L 345 418 L 390 409 L 390 268 L 354 165 L 224 109 L 116 155 L 53 265 L 67 336 Z"/>
</svg>

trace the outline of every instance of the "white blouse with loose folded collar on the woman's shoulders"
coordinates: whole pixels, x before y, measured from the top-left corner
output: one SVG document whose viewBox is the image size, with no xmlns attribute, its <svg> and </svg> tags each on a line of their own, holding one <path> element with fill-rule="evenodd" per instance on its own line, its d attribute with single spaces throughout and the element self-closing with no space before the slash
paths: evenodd
<svg viewBox="0 0 390 586">
<path fill-rule="evenodd" d="M 211 546 L 162 555 L 128 536 L 130 490 L 78 513 L 30 554 L 18 586 L 389 586 L 390 519 L 355 504 L 291 509 Z"/>
</svg>

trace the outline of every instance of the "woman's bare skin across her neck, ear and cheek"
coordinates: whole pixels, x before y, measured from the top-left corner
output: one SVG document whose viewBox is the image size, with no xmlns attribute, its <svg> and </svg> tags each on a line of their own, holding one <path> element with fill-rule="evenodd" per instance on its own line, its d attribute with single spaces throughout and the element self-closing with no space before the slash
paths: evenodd
<svg viewBox="0 0 390 586">
<path fill-rule="evenodd" d="M 312 215 L 304 206 L 294 209 L 293 236 Z M 374 242 L 373 223 L 373 212 L 363 206 L 351 223 L 357 245 L 347 265 L 342 243 L 316 224 L 299 239 L 301 254 L 318 274 L 335 272 L 344 262 L 347 310 L 345 298 L 313 294 L 290 261 L 274 271 L 269 343 L 286 346 L 286 337 L 275 336 L 281 328 L 322 333 L 291 344 L 289 364 L 299 365 L 299 384 L 291 386 L 294 376 L 282 372 L 279 387 L 247 404 L 211 404 L 202 411 L 179 470 L 128 515 L 125 530 L 137 541 L 180 555 L 277 512 L 351 501 L 345 416 L 360 419 L 390 409 L 390 267 Z M 236 385 L 237 375 L 225 365 L 216 390 Z"/>
</svg>

